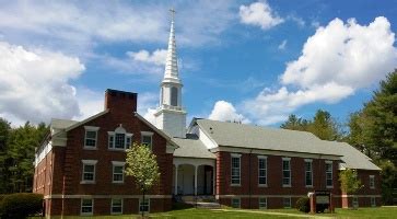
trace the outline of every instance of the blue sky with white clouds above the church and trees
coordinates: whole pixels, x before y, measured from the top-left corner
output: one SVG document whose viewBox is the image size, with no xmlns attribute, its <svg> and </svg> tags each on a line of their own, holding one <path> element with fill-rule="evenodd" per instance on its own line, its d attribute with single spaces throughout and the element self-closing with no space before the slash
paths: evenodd
<svg viewBox="0 0 397 219">
<path fill-rule="evenodd" d="M 318 108 L 345 122 L 397 67 L 397 1 L 3 1 L 0 116 L 83 119 L 108 88 L 157 105 L 175 18 L 191 117 L 279 126 Z"/>
</svg>

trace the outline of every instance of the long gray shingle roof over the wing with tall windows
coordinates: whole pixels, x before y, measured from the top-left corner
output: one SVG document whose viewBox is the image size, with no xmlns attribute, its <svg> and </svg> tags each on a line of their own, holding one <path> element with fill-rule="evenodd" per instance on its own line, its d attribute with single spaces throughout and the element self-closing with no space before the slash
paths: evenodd
<svg viewBox="0 0 397 219">
<path fill-rule="evenodd" d="M 339 155 L 311 132 L 197 119 L 219 146 Z"/>
</svg>

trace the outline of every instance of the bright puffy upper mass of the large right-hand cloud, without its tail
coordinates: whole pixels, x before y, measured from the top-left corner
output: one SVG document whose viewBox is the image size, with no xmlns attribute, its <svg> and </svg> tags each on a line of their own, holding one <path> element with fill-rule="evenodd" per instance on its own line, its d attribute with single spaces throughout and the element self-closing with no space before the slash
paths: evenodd
<svg viewBox="0 0 397 219">
<path fill-rule="evenodd" d="M 330 81 L 353 89 L 367 87 L 396 67 L 394 42 L 390 23 L 383 16 L 367 26 L 335 19 L 307 39 L 301 57 L 288 64 L 281 82 L 304 89 Z"/>
</svg>

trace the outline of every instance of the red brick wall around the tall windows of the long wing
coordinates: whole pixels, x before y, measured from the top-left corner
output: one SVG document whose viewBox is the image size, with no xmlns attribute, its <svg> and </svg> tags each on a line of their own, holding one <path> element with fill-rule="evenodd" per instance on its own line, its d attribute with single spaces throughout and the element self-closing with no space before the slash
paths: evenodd
<svg viewBox="0 0 397 219">
<path fill-rule="evenodd" d="M 306 195 L 314 189 L 326 189 L 325 160 L 313 160 L 313 187 L 305 186 L 304 159 L 291 158 L 291 187 L 282 187 L 282 158 L 280 155 L 267 157 L 267 187 L 258 186 L 258 158 L 243 153 L 241 157 L 241 186 L 231 186 L 231 153 L 217 153 L 217 194 L 218 195 L 248 195 L 249 183 L 252 195 Z M 250 162 L 250 171 L 249 171 Z M 338 162 L 334 166 L 334 194 L 338 194 L 337 178 Z"/>
</svg>

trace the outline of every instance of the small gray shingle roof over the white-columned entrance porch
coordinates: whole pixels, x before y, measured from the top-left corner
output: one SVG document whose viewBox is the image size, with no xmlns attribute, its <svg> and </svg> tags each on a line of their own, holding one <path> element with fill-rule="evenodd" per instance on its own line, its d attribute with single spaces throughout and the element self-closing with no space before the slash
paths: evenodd
<svg viewBox="0 0 397 219">
<path fill-rule="evenodd" d="M 205 145 L 198 139 L 186 139 L 186 138 L 173 138 L 174 142 L 179 146 L 174 151 L 174 157 L 182 158 L 207 158 L 215 159 L 217 157 L 208 151 Z"/>
</svg>

